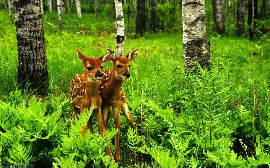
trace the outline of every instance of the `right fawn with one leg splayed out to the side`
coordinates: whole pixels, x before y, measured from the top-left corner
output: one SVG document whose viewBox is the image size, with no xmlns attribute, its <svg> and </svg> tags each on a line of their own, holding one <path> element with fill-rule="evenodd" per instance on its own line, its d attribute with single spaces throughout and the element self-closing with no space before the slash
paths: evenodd
<svg viewBox="0 0 270 168">
<path fill-rule="evenodd" d="M 107 52 L 113 52 L 109 48 L 107 48 Z M 115 129 L 118 129 L 118 133 L 115 137 L 115 145 L 116 145 L 116 160 L 121 161 L 120 158 L 120 148 L 119 148 L 119 134 L 120 134 L 120 108 L 124 116 L 127 118 L 128 122 L 131 126 L 136 129 L 133 119 L 131 116 L 131 112 L 128 110 L 128 105 L 126 103 L 125 94 L 122 92 L 122 85 L 125 79 L 130 77 L 130 61 L 133 61 L 137 56 L 138 49 L 131 51 L 128 53 L 126 57 L 119 56 L 116 57 L 113 55 L 113 69 L 105 70 L 103 72 L 103 77 L 100 82 L 101 89 L 101 98 L 102 98 L 102 117 L 104 126 L 106 128 L 107 123 L 110 119 L 110 114 L 113 113 L 114 126 Z"/>
</svg>

